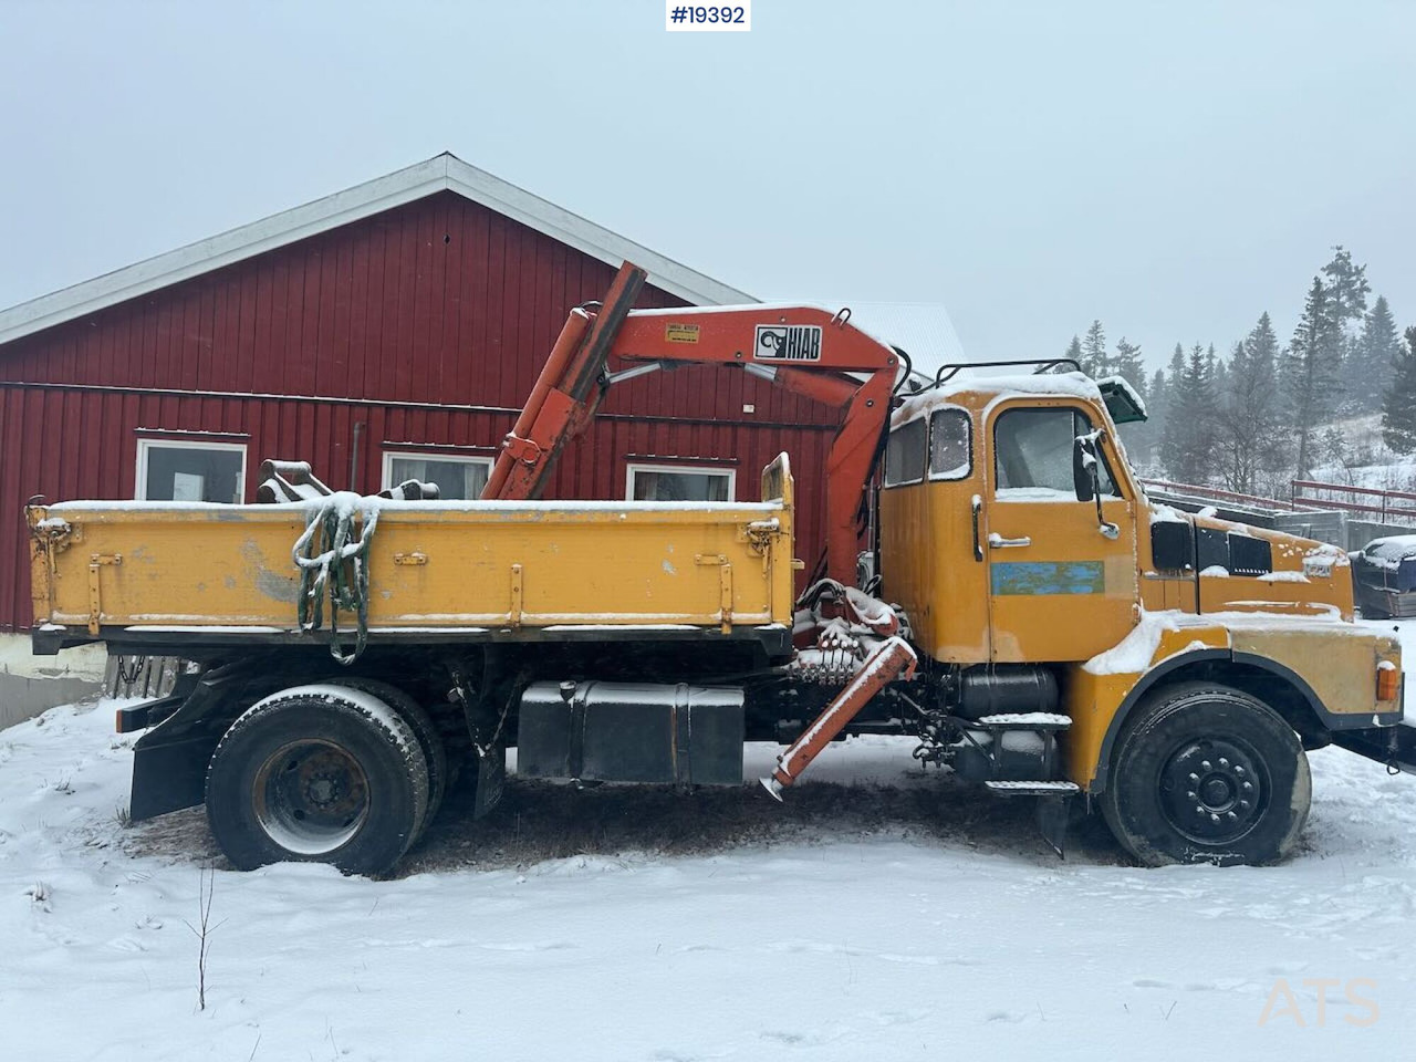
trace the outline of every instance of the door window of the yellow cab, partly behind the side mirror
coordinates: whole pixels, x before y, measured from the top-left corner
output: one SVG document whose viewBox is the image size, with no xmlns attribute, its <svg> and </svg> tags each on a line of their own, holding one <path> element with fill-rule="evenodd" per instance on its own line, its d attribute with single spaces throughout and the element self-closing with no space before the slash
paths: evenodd
<svg viewBox="0 0 1416 1062">
<path fill-rule="evenodd" d="M 1076 500 L 1072 483 L 1072 442 L 1092 430 L 1078 409 L 1046 406 L 1008 409 L 994 425 L 995 491 L 1000 497 Z M 1116 480 L 1100 460 L 1103 497 L 1119 497 Z"/>
</svg>

